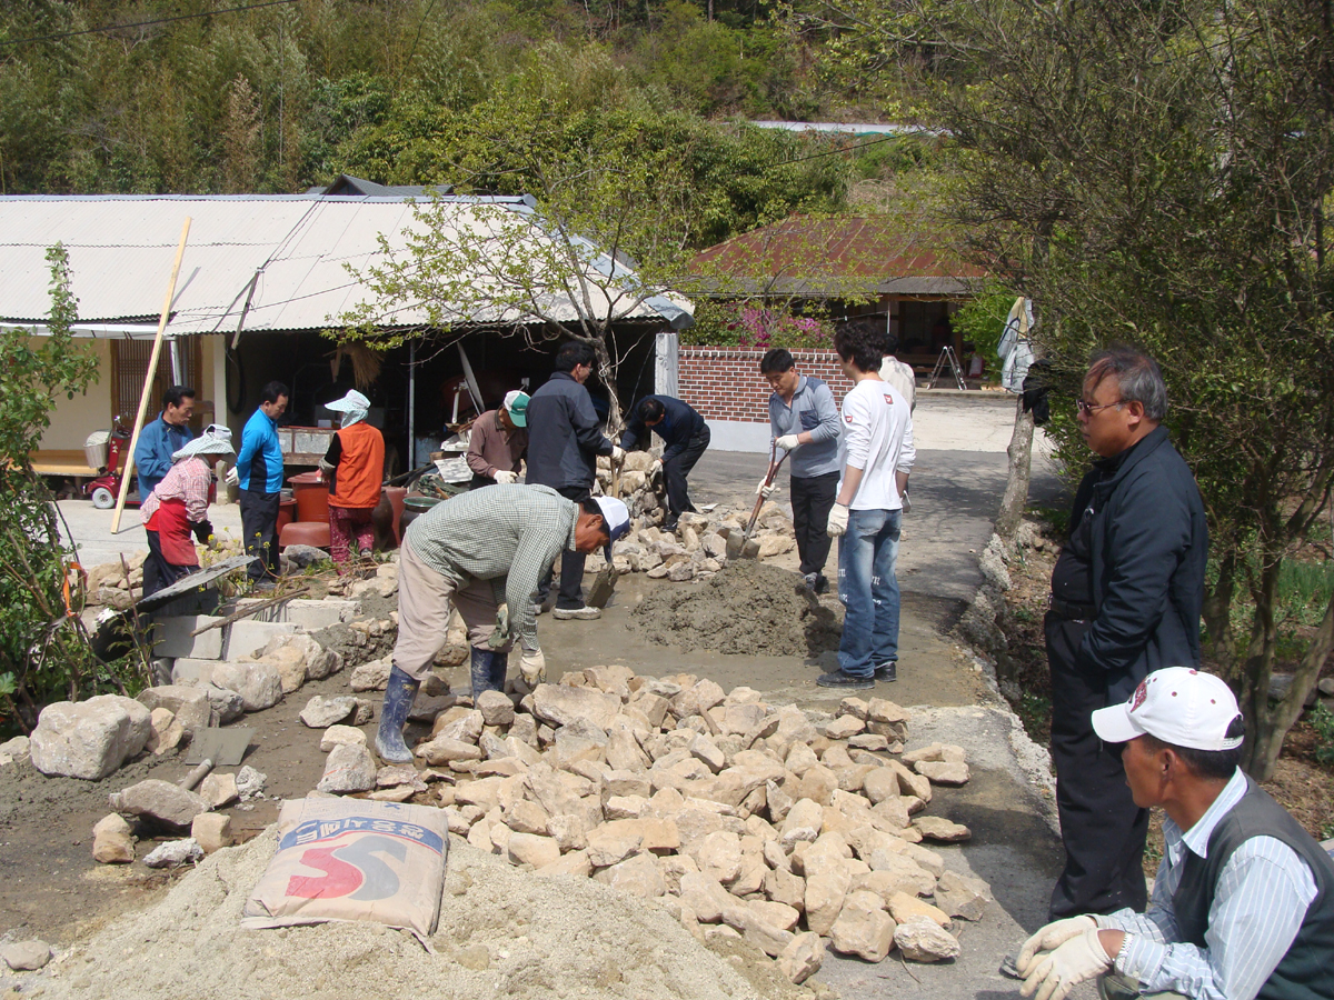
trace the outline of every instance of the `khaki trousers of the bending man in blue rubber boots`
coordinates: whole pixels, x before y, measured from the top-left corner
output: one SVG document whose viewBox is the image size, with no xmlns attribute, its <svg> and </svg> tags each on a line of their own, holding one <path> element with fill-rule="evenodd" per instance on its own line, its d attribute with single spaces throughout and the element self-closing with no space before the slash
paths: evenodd
<svg viewBox="0 0 1334 1000">
<path fill-rule="evenodd" d="M 418 683 L 426 680 L 444 645 L 455 608 L 468 628 L 468 645 L 491 649 L 487 639 L 495 631 L 498 607 L 490 580 L 468 577 L 467 584 L 456 587 L 404 544 L 399 549 L 399 639 L 394 644 L 394 665 Z M 511 645 L 507 643 L 494 652 L 507 653 Z"/>
</svg>

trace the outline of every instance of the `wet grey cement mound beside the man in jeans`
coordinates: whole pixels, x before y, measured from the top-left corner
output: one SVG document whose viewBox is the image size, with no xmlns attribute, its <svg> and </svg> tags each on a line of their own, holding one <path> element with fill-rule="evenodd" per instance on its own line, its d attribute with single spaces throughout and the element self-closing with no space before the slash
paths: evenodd
<svg viewBox="0 0 1334 1000">
<path fill-rule="evenodd" d="M 818 656 L 838 649 L 843 631 L 842 608 L 822 604 L 800 576 L 750 559 L 650 595 L 631 621 L 660 645 L 744 656 Z"/>
</svg>

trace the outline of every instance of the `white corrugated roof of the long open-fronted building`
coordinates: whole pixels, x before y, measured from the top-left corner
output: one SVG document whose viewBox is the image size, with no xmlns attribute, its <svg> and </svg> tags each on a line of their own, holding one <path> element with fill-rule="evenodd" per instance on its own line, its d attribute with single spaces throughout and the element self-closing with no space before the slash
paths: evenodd
<svg viewBox="0 0 1334 1000">
<path fill-rule="evenodd" d="M 531 215 L 526 197 L 442 199 L 455 227 L 476 227 L 482 203 Z M 320 329 L 364 300 L 344 264 L 364 268 L 406 248 L 416 225 L 402 197 L 321 197 L 319 195 L 241 196 L 15 196 L 0 197 L 0 319 L 41 323 L 49 311 L 45 252 L 56 243 L 69 252 L 80 321 L 93 325 L 149 316 L 156 327 L 167 279 L 189 216 L 169 333 L 245 329 Z M 534 239 L 547 239 L 534 227 Z M 606 264 L 596 265 L 608 272 Z M 623 268 L 622 273 L 632 280 Z M 256 277 L 257 275 L 257 277 Z M 606 300 L 600 307 L 608 308 Z M 558 319 L 574 320 L 568 300 L 556 299 Z M 684 320 L 682 319 L 684 317 Z M 660 319 L 688 325 L 690 303 L 654 299 L 626 319 Z M 392 317 L 394 325 L 424 323 L 420 309 Z M 460 320 L 506 321 L 498 313 Z"/>
</svg>

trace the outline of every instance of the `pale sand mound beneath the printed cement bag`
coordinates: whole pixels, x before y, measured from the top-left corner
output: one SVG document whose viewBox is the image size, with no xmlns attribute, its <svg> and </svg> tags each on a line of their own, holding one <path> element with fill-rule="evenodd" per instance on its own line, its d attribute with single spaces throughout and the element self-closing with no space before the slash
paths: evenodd
<svg viewBox="0 0 1334 1000">
<path fill-rule="evenodd" d="M 574 876 L 536 876 L 450 839 L 428 953 L 379 924 L 272 931 L 237 924 L 276 827 L 219 851 L 160 904 L 117 920 L 41 973 L 44 996 L 119 1000 L 782 1000 L 810 997 L 756 963 L 724 961 L 666 909 Z M 758 953 L 756 953 L 758 955 Z M 738 969 L 734 965 L 740 965 Z"/>
</svg>

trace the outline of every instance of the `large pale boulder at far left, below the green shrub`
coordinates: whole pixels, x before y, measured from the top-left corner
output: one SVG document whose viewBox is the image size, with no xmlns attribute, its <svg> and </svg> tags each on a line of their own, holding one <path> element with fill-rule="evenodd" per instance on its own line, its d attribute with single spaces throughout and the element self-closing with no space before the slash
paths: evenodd
<svg viewBox="0 0 1334 1000">
<path fill-rule="evenodd" d="M 28 752 L 43 775 L 96 781 L 144 749 L 152 713 L 120 695 L 56 701 L 41 709 Z"/>
</svg>

